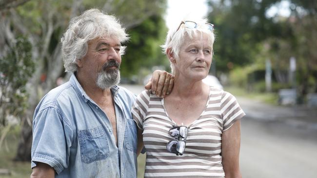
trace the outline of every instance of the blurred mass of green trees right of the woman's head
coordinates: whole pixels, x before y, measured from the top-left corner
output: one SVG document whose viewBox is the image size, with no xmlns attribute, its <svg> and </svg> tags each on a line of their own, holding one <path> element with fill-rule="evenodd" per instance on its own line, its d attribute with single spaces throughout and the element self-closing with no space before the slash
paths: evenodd
<svg viewBox="0 0 317 178">
<path fill-rule="evenodd" d="M 281 0 L 209 1 L 208 18 L 215 23 L 217 70 L 272 60 L 277 82 L 287 83 L 289 59 L 297 59 L 299 94 L 317 90 L 317 3 L 289 0 L 291 15 L 269 17 L 267 10 Z M 263 65 L 262 65 L 263 66 Z"/>
</svg>

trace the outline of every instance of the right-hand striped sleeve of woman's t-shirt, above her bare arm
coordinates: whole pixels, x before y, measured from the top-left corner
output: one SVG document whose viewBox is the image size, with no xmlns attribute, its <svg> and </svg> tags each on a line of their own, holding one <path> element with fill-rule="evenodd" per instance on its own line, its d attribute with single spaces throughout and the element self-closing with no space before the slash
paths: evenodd
<svg viewBox="0 0 317 178">
<path fill-rule="evenodd" d="M 221 116 L 223 119 L 223 130 L 229 129 L 236 121 L 245 116 L 239 106 L 236 97 L 229 92 L 223 92 L 221 99 Z"/>
</svg>

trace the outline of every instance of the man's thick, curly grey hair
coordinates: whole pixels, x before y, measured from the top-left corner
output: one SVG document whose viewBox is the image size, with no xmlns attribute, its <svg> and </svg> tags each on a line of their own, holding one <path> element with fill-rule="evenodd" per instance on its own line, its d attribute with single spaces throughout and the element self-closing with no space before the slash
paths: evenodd
<svg viewBox="0 0 317 178">
<path fill-rule="evenodd" d="M 77 60 L 86 55 L 88 42 L 104 36 L 119 39 L 121 44 L 129 39 L 116 17 L 98 9 L 87 10 L 82 15 L 72 18 L 61 38 L 65 71 L 77 71 Z M 120 54 L 124 54 L 124 51 L 125 47 L 122 46 Z"/>
</svg>

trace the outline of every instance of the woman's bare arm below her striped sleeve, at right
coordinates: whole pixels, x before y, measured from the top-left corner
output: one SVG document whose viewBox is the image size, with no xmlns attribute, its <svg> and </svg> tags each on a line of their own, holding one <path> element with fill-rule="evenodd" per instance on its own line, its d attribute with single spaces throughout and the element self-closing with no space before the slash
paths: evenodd
<svg viewBox="0 0 317 178">
<path fill-rule="evenodd" d="M 242 178 L 239 169 L 240 120 L 221 136 L 221 156 L 225 178 Z"/>
</svg>

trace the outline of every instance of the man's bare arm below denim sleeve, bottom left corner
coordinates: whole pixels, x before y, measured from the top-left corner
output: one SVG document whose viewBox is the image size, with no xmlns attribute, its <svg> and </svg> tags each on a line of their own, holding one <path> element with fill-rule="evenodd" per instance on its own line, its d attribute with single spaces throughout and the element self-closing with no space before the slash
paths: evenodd
<svg viewBox="0 0 317 178">
<path fill-rule="evenodd" d="M 55 171 L 50 165 L 37 162 L 37 165 L 32 169 L 31 178 L 55 178 Z"/>
</svg>

